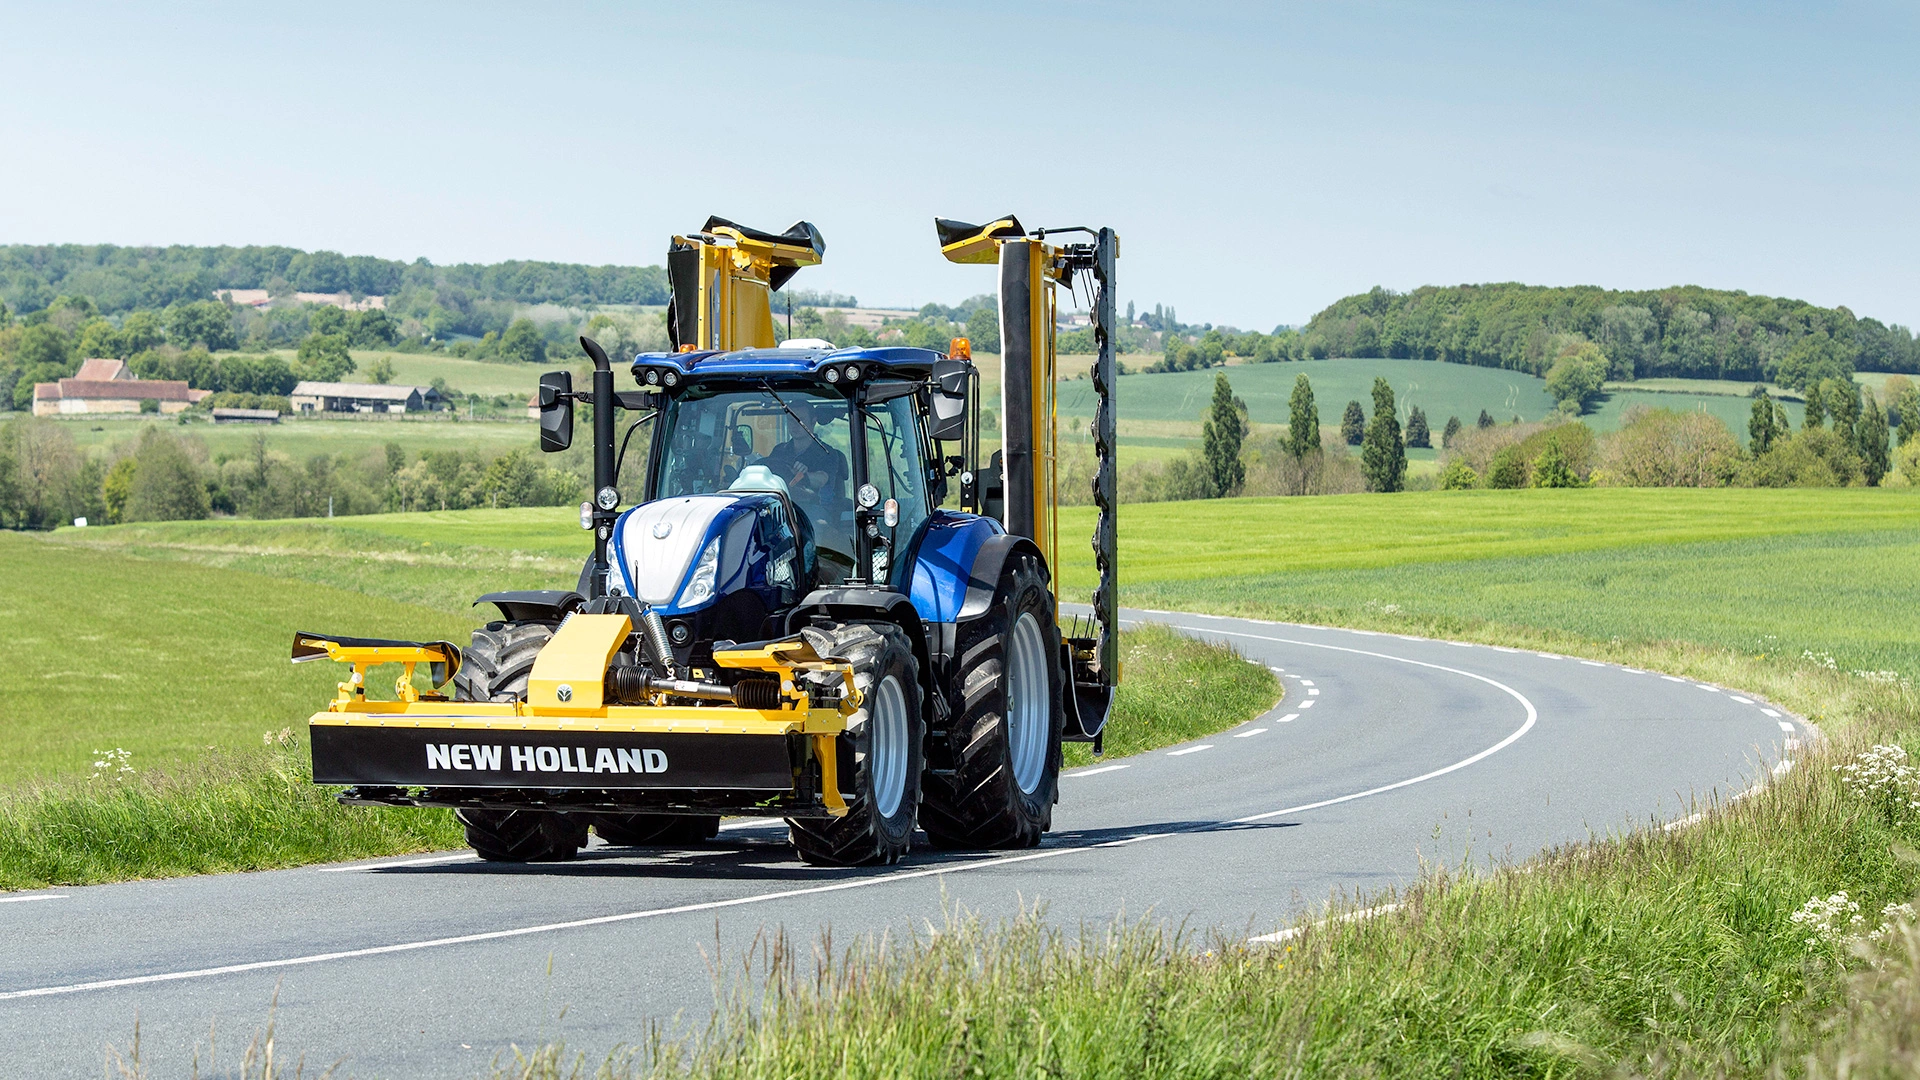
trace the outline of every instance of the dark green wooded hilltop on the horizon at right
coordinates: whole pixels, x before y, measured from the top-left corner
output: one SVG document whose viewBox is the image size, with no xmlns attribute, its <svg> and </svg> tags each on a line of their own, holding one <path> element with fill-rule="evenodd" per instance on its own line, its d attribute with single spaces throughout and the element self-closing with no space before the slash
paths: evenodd
<svg viewBox="0 0 1920 1080">
<path fill-rule="evenodd" d="M 1331 304 L 1302 331 L 1311 357 L 1413 357 L 1542 375 L 1567 348 L 1597 342 L 1615 379 L 1774 379 L 1799 386 L 1843 371 L 1920 373 L 1905 327 L 1845 307 L 1699 286 L 1455 284 L 1375 288 Z"/>
</svg>

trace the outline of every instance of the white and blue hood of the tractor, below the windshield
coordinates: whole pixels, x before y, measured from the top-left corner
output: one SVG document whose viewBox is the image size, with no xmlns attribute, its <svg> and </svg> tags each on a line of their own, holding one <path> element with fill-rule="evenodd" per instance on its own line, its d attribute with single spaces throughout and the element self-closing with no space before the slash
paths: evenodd
<svg viewBox="0 0 1920 1080">
<path fill-rule="evenodd" d="M 799 561 L 785 521 L 785 503 L 772 494 L 722 492 L 636 505 L 614 523 L 616 582 L 662 613 L 707 607 L 741 590 L 791 588 Z"/>
</svg>

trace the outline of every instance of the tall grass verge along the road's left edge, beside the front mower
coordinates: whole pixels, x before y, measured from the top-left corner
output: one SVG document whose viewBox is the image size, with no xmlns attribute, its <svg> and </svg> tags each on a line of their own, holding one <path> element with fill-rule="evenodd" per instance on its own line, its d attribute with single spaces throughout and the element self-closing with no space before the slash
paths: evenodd
<svg viewBox="0 0 1920 1080">
<path fill-rule="evenodd" d="M 259 738 L 259 736 L 255 736 Z M 465 844 L 451 811 L 342 807 L 294 732 L 127 778 L 0 788 L 0 892 L 269 871 Z"/>
</svg>

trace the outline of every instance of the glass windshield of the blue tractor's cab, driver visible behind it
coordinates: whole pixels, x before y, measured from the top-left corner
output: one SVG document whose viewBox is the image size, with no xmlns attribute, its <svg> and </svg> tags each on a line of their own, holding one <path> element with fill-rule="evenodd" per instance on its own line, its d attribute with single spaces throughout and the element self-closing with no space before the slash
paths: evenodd
<svg viewBox="0 0 1920 1080">
<path fill-rule="evenodd" d="M 689 386 L 668 402 L 653 498 L 699 496 L 739 484 L 785 486 L 818 548 L 820 584 L 852 571 L 852 471 L 847 400 L 804 388 Z M 760 465 L 741 477 L 741 471 Z"/>
</svg>

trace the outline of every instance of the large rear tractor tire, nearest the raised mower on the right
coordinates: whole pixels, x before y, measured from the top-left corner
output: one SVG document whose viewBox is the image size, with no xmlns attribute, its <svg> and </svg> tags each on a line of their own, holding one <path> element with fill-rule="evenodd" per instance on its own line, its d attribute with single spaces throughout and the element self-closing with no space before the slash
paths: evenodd
<svg viewBox="0 0 1920 1080">
<path fill-rule="evenodd" d="M 1010 738 L 1008 701 L 1016 665 L 1008 661 L 1008 642 L 1021 619 L 1033 619 L 1044 648 L 1046 671 L 1044 748 L 1027 746 L 1025 767 L 1031 788 L 1016 776 L 1016 746 Z M 1021 630 L 1029 646 L 1031 632 Z M 947 746 L 952 774 L 927 774 L 920 805 L 920 828 L 935 847 L 1033 847 L 1054 824 L 1060 799 L 1062 707 L 1060 628 L 1054 625 L 1054 598 L 1046 590 L 1046 571 L 1033 555 L 1014 555 L 1000 571 L 993 607 L 960 626 L 958 701 Z M 1029 698 L 1029 701 L 1033 701 Z M 1033 705 L 1029 705 L 1033 707 Z M 1029 721 L 1031 723 L 1031 721 Z M 1039 740 L 1029 728 L 1025 738 Z M 1033 753 L 1043 751 L 1044 759 Z"/>
</svg>

